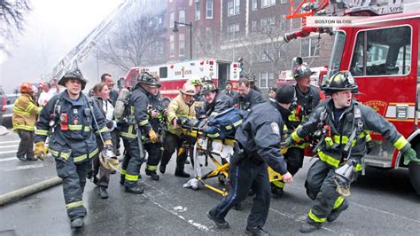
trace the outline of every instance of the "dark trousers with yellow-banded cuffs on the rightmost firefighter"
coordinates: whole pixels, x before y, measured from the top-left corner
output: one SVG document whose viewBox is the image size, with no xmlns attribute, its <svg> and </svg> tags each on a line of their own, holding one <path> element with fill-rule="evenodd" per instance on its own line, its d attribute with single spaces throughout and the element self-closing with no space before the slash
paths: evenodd
<svg viewBox="0 0 420 236">
<path fill-rule="evenodd" d="M 343 205 L 345 198 L 340 196 L 334 183 L 335 169 L 323 161 L 315 161 L 307 171 L 307 195 L 315 200 L 309 210 L 307 220 L 310 224 L 323 224 L 331 211 Z M 347 203 L 347 202 L 346 202 Z"/>
</svg>

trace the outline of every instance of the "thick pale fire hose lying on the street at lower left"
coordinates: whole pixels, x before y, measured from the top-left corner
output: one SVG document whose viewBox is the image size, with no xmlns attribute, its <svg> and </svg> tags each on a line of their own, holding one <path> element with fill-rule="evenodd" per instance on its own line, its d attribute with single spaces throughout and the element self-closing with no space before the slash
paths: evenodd
<svg viewBox="0 0 420 236">
<path fill-rule="evenodd" d="M 63 180 L 60 177 L 51 177 L 35 185 L 29 185 L 10 193 L 4 193 L 0 195 L 0 206 L 13 201 L 18 201 L 19 199 L 25 198 L 31 194 L 42 192 L 43 190 L 49 189 L 55 185 L 60 185 L 62 182 Z"/>
</svg>

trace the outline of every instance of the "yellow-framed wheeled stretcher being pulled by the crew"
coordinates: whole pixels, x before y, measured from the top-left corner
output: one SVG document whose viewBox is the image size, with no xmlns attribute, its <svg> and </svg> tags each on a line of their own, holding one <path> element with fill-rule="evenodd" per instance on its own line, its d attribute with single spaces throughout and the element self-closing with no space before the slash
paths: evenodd
<svg viewBox="0 0 420 236">
<path fill-rule="evenodd" d="M 233 146 L 235 144 L 234 138 L 209 138 L 205 132 L 198 130 L 198 128 L 193 127 L 183 127 L 183 135 L 196 138 L 196 142 L 193 150 L 193 159 L 194 163 L 194 178 L 190 179 L 184 187 L 192 187 L 193 189 L 198 188 L 198 183 L 205 186 L 207 189 L 219 193 L 222 196 L 228 194 L 226 188 L 230 184 L 229 181 L 229 158 L 233 154 Z M 208 165 L 208 159 L 213 161 L 215 168 L 208 171 L 206 174 L 201 173 L 201 167 L 198 161 L 198 153 L 204 154 L 206 158 L 205 166 Z M 191 155 L 191 153 L 189 153 Z M 206 183 L 207 179 L 217 177 L 221 187 L 214 185 L 209 185 Z M 268 167 L 268 177 L 269 182 L 272 187 L 276 187 L 278 183 L 282 180 L 282 176 Z"/>
</svg>

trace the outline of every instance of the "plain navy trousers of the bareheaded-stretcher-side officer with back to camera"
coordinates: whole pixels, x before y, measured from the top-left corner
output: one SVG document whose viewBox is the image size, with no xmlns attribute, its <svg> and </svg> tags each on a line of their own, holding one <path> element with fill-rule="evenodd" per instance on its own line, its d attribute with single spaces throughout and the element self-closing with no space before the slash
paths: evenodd
<svg viewBox="0 0 420 236">
<path fill-rule="evenodd" d="M 271 197 L 267 164 L 257 164 L 250 157 L 245 157 L 237 166 L 232 166 L 229 172 L 230 191 L 219 205 L 212 209 L 212 215 L 224 218 L 230 208 L 246 199 L 250 188 L 252 188 L 256 195 L 253 198 L 253 207 L 248 216 L 247 227 L 264 226 Z"/>
</svg>

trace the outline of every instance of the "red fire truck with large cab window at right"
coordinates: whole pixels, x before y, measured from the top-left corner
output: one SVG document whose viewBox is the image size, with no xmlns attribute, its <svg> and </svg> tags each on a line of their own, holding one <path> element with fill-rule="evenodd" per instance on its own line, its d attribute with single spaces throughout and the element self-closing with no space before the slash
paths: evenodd
<svg viewBox="0 0 420 236">
<path fill-rule="evenodd" d="M 299 31 L 284 35 L 284 42 L 311 33 L 334 35 L 329 72 L 348 70 L 361 91 L 356 98 L 392 122 L 420 156 L 420 5 L 416 1 L 302 1 L 290 5 L 286 17 L 302 18 Z M 353 4 L 353 5 L 352 5 Z M 317 28 L 306 25 L 309 16 L 369 16 L 353 27 Z M 402 154 L 377 133 L 375 148 L 365 157 L 368 166 L 408 168 L 411 184 L 420 195 L 420 164 L 404 165 Z"/>
</svg>

